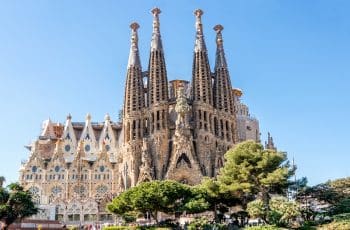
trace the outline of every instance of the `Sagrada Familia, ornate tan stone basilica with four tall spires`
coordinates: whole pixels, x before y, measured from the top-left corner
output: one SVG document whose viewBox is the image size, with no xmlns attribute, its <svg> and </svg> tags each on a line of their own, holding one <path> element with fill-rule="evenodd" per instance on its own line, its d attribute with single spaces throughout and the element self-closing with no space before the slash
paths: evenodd
<svg viewBox="0 0 350 230">
<path fill-rule="evenodd" d="M 43 122 L 37 140 L 27 146 L 29 159 L 20 183 L 42 212 L 37 218 L 65 223 L 112 221 L 105 203 L 144 181 L 171 179 L 186 184 L 215 177 L 224 154 L 245 140 L 260 142 L 259 122 L 232 88 L 222 31 L 216 32 L 216 59 L 209 65 L 201 16 L 195 14 L 192 81 L 168 81 L 160 35 L 160 10 L 153 14 L 148 69 L 141 67 L 137 23 L 125 81 L 122 119 L 65 124 Z M 267 148 L 275 148 L 269 136 Z"/>
</svg>

